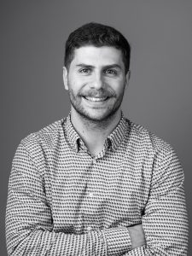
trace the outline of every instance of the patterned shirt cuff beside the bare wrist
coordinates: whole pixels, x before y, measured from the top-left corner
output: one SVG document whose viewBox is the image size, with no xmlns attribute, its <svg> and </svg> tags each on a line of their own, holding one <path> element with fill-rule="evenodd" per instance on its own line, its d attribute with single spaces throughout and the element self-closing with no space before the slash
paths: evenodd
<svg viewBox="0 0 192 256">
<path fill-rule="evenodd" d="M 131 237 L 126 227 L 103 230 L 108 245 L 108 255 L 119 255 L 131 250 Z"/>
</svg>

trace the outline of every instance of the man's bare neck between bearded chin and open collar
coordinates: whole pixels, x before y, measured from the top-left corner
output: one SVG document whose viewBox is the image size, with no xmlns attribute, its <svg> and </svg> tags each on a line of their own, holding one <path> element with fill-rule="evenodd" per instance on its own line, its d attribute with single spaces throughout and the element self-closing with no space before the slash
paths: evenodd
<svg viewBox="0 0 192 256">
<path fill-rule="evenodd" d="M 114 128 L 118 125 L 121 118 L 120 109 L 102 121 L 86 119 L 73 108 L 71 111 L 71 120 L 73 127 L 79 133 L 84 144 L 89 149 L 90 154 L 97 155 L 102 151 L 104 142 Z"/>
</svg>

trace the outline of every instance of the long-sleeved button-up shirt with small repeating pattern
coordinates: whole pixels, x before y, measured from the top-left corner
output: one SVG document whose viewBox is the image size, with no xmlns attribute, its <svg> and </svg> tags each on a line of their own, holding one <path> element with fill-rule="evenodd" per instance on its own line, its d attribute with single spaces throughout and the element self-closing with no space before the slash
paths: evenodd
<svg viewBox="0 0 192 256">
<path fill-rule="evenodd" d="M 127 227 L 143 224 L 131 249 Z M 70 114 L 24 138 L 9 178 L 9 255 L 187 255 L 183 170 L 172 147 L 122 118 L 91 155 Z"/>
</svg>

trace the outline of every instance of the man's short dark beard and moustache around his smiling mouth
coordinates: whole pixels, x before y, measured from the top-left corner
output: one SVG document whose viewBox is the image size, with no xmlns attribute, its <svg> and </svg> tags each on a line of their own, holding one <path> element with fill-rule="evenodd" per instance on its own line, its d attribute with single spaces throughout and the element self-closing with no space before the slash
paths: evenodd
<svg viewBox="0 0 192 256">
<path fill-rule="evenodd" d="M 68 88 L 69 98 L 73 108 L 83 119 L 93 123 L 106 122 L 109 119 L 112 119 L 120 108 L 125 91 L 124 88 L 119 96 L 117 96 L 110 88 L 100 90 L 80 90 L 78 94 L 75 94 L 70 84 L 68 84 Z M 86 101 L 85 96 L 107 98 L 104 108 L 99 106 L 99 104 L 93 108 L 86 108 L 86 104 L 84 104 L 84 101 Z"/>
</svg>

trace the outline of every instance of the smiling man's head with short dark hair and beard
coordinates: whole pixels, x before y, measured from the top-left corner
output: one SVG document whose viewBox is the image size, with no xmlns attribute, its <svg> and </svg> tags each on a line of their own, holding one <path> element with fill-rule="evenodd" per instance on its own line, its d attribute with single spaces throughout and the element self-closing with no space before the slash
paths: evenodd
<svg viewBox="0 0 192 256">
<path fill-rule="evenodd" d="M 130 44 L 113 27 L 89 23 L 72 32 L 66 43 L 63 79 L 73 116 L 94 122 L 117 116 L 129 67 Z"/>
</svg>

